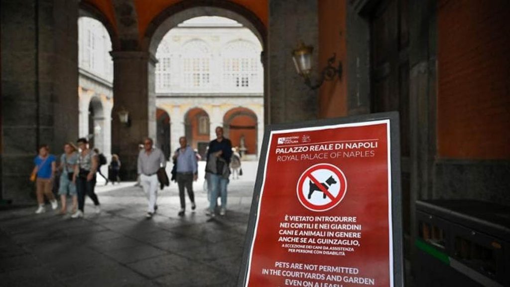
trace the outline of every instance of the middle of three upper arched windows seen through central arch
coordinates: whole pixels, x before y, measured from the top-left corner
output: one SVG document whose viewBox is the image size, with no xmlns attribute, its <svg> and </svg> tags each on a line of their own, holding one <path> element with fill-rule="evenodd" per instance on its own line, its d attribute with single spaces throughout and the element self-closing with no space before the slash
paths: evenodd
<svg viewBox="0 0 510 287">
<path fill-rule="evenodd" d="M 208 87 L 211 82 L 211 55 L 207 44 L 192 40 L 183 46 L 184 87 Z"/>
</svg>

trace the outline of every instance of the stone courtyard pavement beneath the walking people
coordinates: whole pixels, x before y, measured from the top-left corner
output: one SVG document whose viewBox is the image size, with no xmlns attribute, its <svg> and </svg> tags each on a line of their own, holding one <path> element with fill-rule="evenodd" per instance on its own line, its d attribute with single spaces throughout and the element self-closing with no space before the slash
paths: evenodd
<svg viewBox="0 0 510 287">
<path fill-rule="evenodd" d="M 226 216 L 205 216 L 203 179 L 194 183 L 197 209 L 184 217 L 174 182 L 159 192 L 158 213 L 145 218 L 146 199 L 134 182 L 96 192 L 84 219 L 36 205 L 0 212 L 0 286 L 235 286 L 243 254 L 257 162 L 228 186 Z M 203 171 L 200 163 L 199 171 Z M 203 177 L 203 173 L 201 174 Z"/>
</svg>

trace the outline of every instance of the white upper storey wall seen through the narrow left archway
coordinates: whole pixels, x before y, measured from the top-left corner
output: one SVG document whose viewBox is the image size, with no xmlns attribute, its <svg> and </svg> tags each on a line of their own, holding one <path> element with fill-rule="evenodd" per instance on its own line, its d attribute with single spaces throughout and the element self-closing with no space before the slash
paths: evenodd
<svg viewBox="0 0 510 287">
<path fill-rule="evenodd" d="M 110 35 L 103 23 L 90 17 L 78 19 L 79 67 L 97 77 L 113 81 Z"/>
</svg>

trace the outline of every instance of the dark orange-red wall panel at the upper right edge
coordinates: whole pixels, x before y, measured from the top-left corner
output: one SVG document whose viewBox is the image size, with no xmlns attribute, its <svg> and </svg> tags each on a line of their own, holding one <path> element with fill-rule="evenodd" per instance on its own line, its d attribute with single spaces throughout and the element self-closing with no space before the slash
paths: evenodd
<svg viewBox="0 0 510 287">
<path fill-rule="evenodd" d="M 438 2 L 438 154 L 510 159 L 510 2 Z"/>
</svg>

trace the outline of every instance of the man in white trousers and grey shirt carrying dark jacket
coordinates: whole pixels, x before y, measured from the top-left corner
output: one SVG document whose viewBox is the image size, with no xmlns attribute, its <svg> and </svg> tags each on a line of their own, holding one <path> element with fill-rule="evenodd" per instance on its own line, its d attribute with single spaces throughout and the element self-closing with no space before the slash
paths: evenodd
<svg viewBox="0 0 510 287">
<path fill-rule="evenodd" d="M 146 218 L 152 218 L 158 209 L 158 170 L 166 166 L 165 155 L 163 152 L 153 147 L 154 141 L 147 137 L 143 142 L 143 150 L 138 154 L 138 175 L 140 176 L 140 185 L 147 196 L 147 214 Z"/>
</svg>

